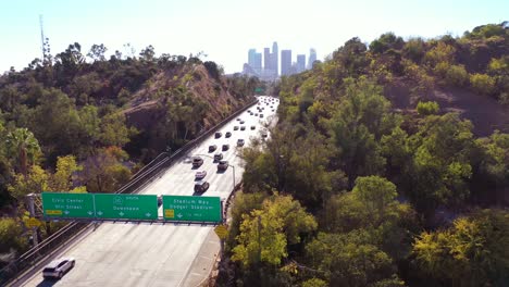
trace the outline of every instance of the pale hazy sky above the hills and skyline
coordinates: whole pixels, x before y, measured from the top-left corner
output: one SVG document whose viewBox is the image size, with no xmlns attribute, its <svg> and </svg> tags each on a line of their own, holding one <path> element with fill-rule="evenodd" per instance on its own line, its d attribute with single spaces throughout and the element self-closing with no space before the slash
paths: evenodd
<svg viewBox="0 0 509 287">
<path fill-rule="evenodd" d="M 41 58 L 39 14 L 51 53 L 72 42 L 86 54 L 104 43 L 107 55 L 131 42 L 137 53 L 208 54 L 226 73 L 241 71 L 249 48 L 309 53 L 319 60 L 351 37 L 370 42 L 385 32 L 399 36 L 462 35 L 509 20 L 508 0 L 0 0 L 0 73 Z"/>
</svg>

